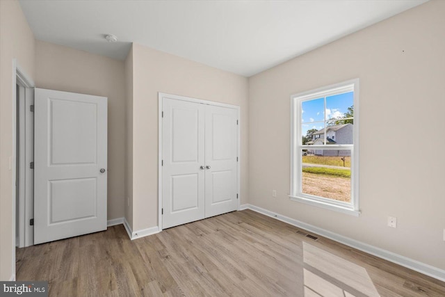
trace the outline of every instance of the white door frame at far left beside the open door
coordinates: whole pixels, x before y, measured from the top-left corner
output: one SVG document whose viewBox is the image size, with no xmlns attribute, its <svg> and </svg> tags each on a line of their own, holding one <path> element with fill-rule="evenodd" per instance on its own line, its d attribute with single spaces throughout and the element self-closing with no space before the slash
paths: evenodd
<svg viewBox="0 0 445 297">
<path fill-rule="evenodd" d="M 12 276 L 11 276 L 11 280 L 15 280 L 15 234 L 16 234 L 16 188 L 15 188 L 15 184 L 17 181 L 16 178 L 16 172 L 17 172 L 17 88 L 16 85 L 19 84 L 19 86 L 23 86 L 24 88 L 34 88 L 34 81 L 31 79 L 31 77 L 29 77 L 28 74 L 26 74 L 26 72 L 24 71 L 24 69 L 22 67 L 20 67 L 19 63 L 17 62 L 16 58 L 13 58 L 13 97 L 12 102 L 13 102 L 13 154 L 10 157 L 10 170 L 11 170 L 11 174 L 12 174 L 12 181 L 13 183 L 11 184 L 13 191 L 12 191 L 12 205 L 13 205 L 13 271 L 12 271 Z M 23 211 L 21 212 L 23 213 Z M 19 220 L 25 220 L 25 218 L 19 218 Z"/>
</svg>

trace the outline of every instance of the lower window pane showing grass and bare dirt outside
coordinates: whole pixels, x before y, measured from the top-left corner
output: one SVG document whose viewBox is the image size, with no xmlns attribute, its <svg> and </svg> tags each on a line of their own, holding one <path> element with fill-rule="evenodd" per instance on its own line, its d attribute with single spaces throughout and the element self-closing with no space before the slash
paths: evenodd
<svg viewBox="0 0 445 297">
<path fill-rule="evenodd" d="M 301 150 L 302 193 L 350 202 L 350 150 Z"/>
</svg>

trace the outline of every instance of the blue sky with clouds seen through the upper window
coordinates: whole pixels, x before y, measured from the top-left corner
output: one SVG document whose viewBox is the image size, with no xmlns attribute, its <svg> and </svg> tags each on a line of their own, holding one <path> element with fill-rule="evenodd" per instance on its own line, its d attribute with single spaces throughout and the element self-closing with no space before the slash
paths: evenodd
<svg viewBox="0 0 445 297">
<path fill-rule="evenodd" d="M 343 93 L 326 97 L 326 118 L 341 118 L 348 107 L 354 105 L 354 93 Z M 301 103 L 302 136 L 309 129 L 323 129 L 325 127 L 325 97 L 303 101 Z"/>
</svg>

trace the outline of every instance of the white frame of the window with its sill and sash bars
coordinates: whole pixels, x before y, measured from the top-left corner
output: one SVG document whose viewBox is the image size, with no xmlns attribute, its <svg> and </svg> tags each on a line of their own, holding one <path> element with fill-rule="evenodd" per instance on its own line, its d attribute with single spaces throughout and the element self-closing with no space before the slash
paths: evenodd
<svg viewBox="0 0 445 297">
<path fill-rule="evenodd" d="M 354 127 L 352 145 L 302 145 L 301 135 L 301 102 L 337 95 L 341 93 L 354 92 Z M 326 143 L 327 133 L 324 138 Z M 302 154 L 300 150 L 326 150 L 335 148 L 337 150 L 351 151 L 351 198 L 350 202 L 338 201 L 330 198 L 322 198 L 315 195 L 302 193 Z M 289 198 L 293 201 L 339 211 L 344 214 L 359 216 L 359 79 L 351 79 L 334 85 L 309 90 L 291 95 L 291 191 Z"/>
</svg>

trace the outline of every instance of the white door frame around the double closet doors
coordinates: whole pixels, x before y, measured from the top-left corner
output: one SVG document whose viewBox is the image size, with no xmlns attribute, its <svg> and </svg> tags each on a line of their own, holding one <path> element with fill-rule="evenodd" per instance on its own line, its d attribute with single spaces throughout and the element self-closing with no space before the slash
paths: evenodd
<svg viewBox="0 0 445 297">
<path fill-rule="evenodd" d="M 237 134 L 238 134 L 238 144 L 237 144 L 237 148 L 236 148 L 236 152 L 238 154 L 238 162 L 236 164 L 236 171 L 237 171 L 237 176 L 236 176 L 236 188 L 238 191 L 238 201 L 236 202 L 236 209 L 239 210 L 240 207 L 240 201 L 241 201 L 241 176 L 240 176 L 240 168 L 241 168 L 241 118 L 240 118 L 240 106 L 237 105 L 232 105 L 232 104 L 225 104 L 225 103 L 220 103 L 220 102 L 213 102 L 213 101 L 209 101 L 209 100 L 204 100 L 204 99 L 197 99 L 197 98 L 193 98 L 193 97 L 186 97 L 186 96 L 181 96 L 181 95 L 173 95 L 173 94 L 168 94 L 168 93 L 158 93 L 158 228 L 159 228 L 159 232 L 161 232 L 163 230 L 163 226 L 162 226 L 162 207 L 163 207 L 163 193 L 162 193 L 162 184 L 163 184 L 163 180 L 162 180 L 162 152 L 163 152 L 163 147 L 162 147 L 162 143 L 163 143 L 163 133 L 162 133 L 162 108 L 163 108 L 163 98 L 169 98 L 169 99 L 176 99 L 176 100 L 181 100 L 181 101 L 186 101 L 186 102 L 193 102 L 193 103 L 200 103 L 200 104 L 207 104 L 207 105 L 213 105 L 213 106 L 221 106 L 221 107 L 226 107 L 229 109 L 236 109 L 237 111 L 237 118 L 238 118 L 238 129 L 237 129 Z"/>
</svg>

